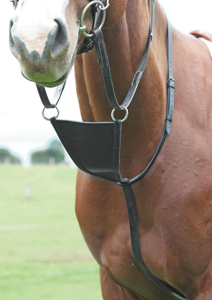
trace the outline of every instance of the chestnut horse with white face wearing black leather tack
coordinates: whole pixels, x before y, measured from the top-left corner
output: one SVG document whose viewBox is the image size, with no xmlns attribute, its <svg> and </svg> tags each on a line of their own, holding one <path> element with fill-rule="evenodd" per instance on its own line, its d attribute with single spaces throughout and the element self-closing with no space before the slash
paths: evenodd
<svg viewBox="0 0 212 300">
<path fill-rule="evenodd" d="M 10 49 L 22 74 L 39 85 L 64 82 L 74 63 L 83 121 L 110 121 L 102 72 L 84 44 L 80 18 L 88 0 L 19 0 L 10 22 Z M 167 21 L 158 0 L 149 58 L 122 125 L 120 170 L 126 178 L 144 170 L 164 127 L 167 106 Z M 147 48 L 150 0 L 111 0 L 104 42 L 118 103 L 131 85 Z M 91 7 L 84 24 L 92 28 Z M 197 35 L 198 36 L 198 35 Z M 190 300 L 212 298 L 212 62 L 196 36 L 172 27 L 175 107 L 172 130 L 147 175 L 132 185 L 139 245 L 147 268 Z M 116 111 L 116 118 L 123 118 Z M 135 262 L 123 190 L 78 170 L 76 214 L 100 266 L 104 300 L 174 300 Z"/>
</svg>

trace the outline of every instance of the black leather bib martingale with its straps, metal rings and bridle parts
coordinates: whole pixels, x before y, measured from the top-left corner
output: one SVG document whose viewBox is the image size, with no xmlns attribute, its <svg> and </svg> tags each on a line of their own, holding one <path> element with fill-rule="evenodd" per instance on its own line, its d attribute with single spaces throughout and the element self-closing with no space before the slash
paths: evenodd
<svg viewBox="0 0 212 300">
<path fill-rule="evenodd" d="M 17 6 L 18 0 L 10 0 L 13 2 L 14 8 Z M 93 47 L 97 53 L 97 60 L 100 64 L 103 74 L 103 80 L 105 84 L 106 94 L 109 100 L 109 103 L 112 110 L 112 119 L 114 122 L 74 122 L 74 121 L 65 121 L 57 120 L 59 115 L 59 110 L 57 109 L 57 103 L 60 100 L 62 91 L 65 87 L 65 82 L 59 85 L 56 88 L 52 104 L 46 94 L 45 88 L 37 85 L 37 90 L 39 96 L 44 105 L 42 115 L 45 119 L 49 120 L 53 125 L 55 131 L 57 132 L 58 137 L 60 138 L 63 146 L 66 151 L 74 161 L 74 163 L 84 172 L 97 176 L 99 178 L 112 181 L 123 188 L 123 192 L 126 199 L 126 206 L 129 217 L 129 227 L 130 227 L 130 237 L 132 252 L 137 265 L 141 270 L 149 277 L 155 285 L 160 289 L 169 293 L 176 299 L 186 299 L 185 296 L 176 288 L 155 277 L 154 274 L 146 267 L 142 256 L 139 245 L 139 232 L 138 232 L 138 214 L 136 208 L 136 202 L 134 194 L 132 191 L 132 184 L 144 178 L 147 172 L 150 170 L 152 164 L 157 158 L 167 135 L 171 130 L 171 122 L 173 116 L 173 106 L 174 106 L 174 82 L 173 78 L 173 67 L 172 67 L 172 29 L 169 20 L 167 19 L 167 35 L 168 35 L 168 79 L 167 79 L 167 114 L 164 124 L 163 133 L 161 139 L 158 143 L 157 149 L 155 150 L 154 155 L 152 156 L 150 162 L 143 170 L 142 173 L 138 174 L 132 179 L 122 178 L 119 165 L 120 165 L 120 144 L 121 144 L 121 123 L 124 122 L 128 116 L 128 107 L 131 103 L 133 96 L 135 95 L 138 84 L 143 76 L 147 59 L 149 55 L 150 44 L 152 41 L 152 29 L 154 27 L 154 13 L 155 13 L 155 0 L 151 0 L 152 4 L 152 17 L 150 32 L 148 36 L 147 49 L 143 55 L 143 59 L 135 72 L 135 75 L 132 79 L 132 84 L 126 95 L 125 100 L 121 105 L 118 104 L 118 101 L 115 96 L 113 89 L 112 78 L 110 73 L 109 61 L 106 54 L 106 48 L 103 40 L 103 34 L 101 27 L 103 26 L 106 9 L 109 6 L 109 0 L 107 0 L 106 6 L 104 6 L 104 0 L 94 0 L 91 1 L 83 10 L 82 18 L 80 21 L 80 30 L 87 37 L 82 48 L 77 52 L 78 55 L 91 51 Z M 83 17 L 86 13 L 86 10 L 92 6 L 93 13 L 93 28 L 89 34 L 86 33 L 86 26 L 83 25 Z M 50 119 L 46 118 L 44 115 L 45 108 L 54 108 L 57 109 L 57 116 Z M 123 120 L 115 119 L 114 112 L 115 110 L 125 110 L 126 116 Z M 77 132 L 77 134 L 76 134 Z M 79 137 L 80 135 L 80 137 Z M 90 144 L 88 141 L 91 140 Z M 96 137 L 99 137 L 99 140 L 96 141 Z M 101 138 L 103 137 L 103 138 Z M 84 142 L 82 142 L 82 140 Z M 106 140 L 106 142 L 105 142 Z M 81 144 L 82 143 L 82 144 Z M 105 143 L 105 144 L 104 144 Z M 83 149 L 87 149 L 84 151 Z M 99 150 L 101 149 L 101 151 Z M 83 152 L 84 151 L 84 152 Z M 96 155 L 95 155 L 96 153 Z"/>
</svg>

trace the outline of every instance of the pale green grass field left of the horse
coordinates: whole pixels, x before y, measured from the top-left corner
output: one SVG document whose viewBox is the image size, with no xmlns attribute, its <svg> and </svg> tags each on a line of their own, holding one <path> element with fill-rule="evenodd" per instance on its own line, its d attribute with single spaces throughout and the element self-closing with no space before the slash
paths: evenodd
<svg viewBox="0 0 212 300">
<path fill-rule="evenodd" d="M 98 265 L 75 217 L 76 172 L 0 165 L 1 300 L 102 299 Z"/>
</svg>

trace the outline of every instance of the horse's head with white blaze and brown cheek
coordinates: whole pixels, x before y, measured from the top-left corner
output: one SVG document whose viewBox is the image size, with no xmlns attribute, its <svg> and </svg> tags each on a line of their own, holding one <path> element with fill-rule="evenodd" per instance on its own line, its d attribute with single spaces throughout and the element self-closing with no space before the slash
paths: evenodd
<svg viewBox="0 0 212 300">
<path fill-rule="evenodd" d="M 126 2 L 111 0 L 105 27 L 121 19 Z M 27 79 L 47 87 L 65 81 L 77 47 L 84 41 L 79 27 L 88 3 L 88 0 L 19 0 L 10 22 L 10 49 Z M 89 32 L 93 23 L 91 7 L 83 23 Z"/>
</svg>

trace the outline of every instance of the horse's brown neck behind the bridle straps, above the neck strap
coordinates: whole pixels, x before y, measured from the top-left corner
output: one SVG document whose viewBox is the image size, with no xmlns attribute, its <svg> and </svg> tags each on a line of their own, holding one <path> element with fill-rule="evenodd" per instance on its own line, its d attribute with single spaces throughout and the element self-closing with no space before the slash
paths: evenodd
<svg viewBox="0 0 212 300">
<path fill-rule="evenodd" d="M 134 173 L 146 165 L 157 147 L 164 126 L 167 101 L 167 27 L 165 16 L 157 1 L 155 6 L 155 26 L 147 67 L 129 106 L 129 117 L 123 123 L 121 161 L 125 161 L 126 170 L 129 169 L 126 161 L 133 169 L 133 174 L 126 176 L 135 175 Z M 148 5 L 144 0 L 128 1 L 121 21 L 116 26 L 103 30 L 119 104 L 122 104 L 126 97 L 142 54 L 146 50 L 150 19 L 151 3 Z M 77 58 L 75 72 L 83 120 L 110 121 L 112 108 L 106 97 L 101 69 L 94 51 L 84 55 L 83 58 Z M 83 89 L 82 77 L 86 85 Z M 118 112 L 115 113 L 115 117 L 119 117 Z M 142 154 L 141 163 L 140 165 L 135 163 L 132 167 L 130 157 L 135 158 L 138 149 L 139 155 Z"/>
</svg>

